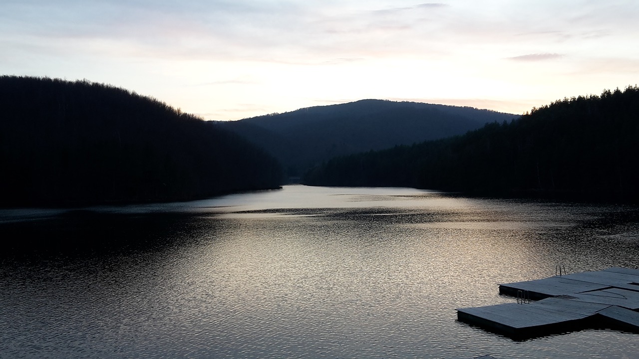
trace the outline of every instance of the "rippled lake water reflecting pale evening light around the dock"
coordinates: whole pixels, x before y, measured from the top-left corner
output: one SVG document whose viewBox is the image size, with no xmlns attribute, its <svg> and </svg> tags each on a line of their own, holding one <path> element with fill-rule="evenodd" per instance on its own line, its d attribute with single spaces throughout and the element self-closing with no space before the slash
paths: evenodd
<svg viewBox="0 0 639 359">
<path fill-rule="evenodd" d="M 0 358 L 636 358 L 605 329 L 456 321 L 497 284 L 639 268 L 639 210 L 300 185 L 0 210 Z M 31 240 L 30 238 L 35 238 Z M 12 243 L 12 244 L 8 244 Z"/>
</svg>

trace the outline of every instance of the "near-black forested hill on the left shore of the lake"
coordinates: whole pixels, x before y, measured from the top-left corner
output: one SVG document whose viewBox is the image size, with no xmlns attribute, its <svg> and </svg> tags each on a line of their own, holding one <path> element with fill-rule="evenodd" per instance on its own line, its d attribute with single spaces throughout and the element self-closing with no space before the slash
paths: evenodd
<svg viewBox="0 0 639 359">
<path fill-rule="evenodd" d="M 275 158 L 125 89 L 0 77 L 0 206 L 174 201 L 276 188 Z"/>
</svg>

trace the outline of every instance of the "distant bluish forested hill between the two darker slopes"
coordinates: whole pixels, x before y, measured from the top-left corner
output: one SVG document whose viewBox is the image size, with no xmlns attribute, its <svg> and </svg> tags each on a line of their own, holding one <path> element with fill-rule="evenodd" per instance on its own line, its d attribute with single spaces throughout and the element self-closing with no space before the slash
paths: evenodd
<svg viewBox="0 0 639 359">
<path fill-rule="evenodd" d="M 514 117 L 471 107 L 361 100 L 218 125 L 267 149 L 296 176 L 335 156 L 464 134 Z"/>
</svg>

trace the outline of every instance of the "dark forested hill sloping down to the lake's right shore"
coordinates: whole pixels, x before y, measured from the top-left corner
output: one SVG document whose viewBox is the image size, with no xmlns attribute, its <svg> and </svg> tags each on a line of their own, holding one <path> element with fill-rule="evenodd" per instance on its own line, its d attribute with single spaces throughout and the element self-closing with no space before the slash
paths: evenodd
<svg viewBox="0 0 639 359">
<path fill-rule="evenodd" d="M 335 158 L 309 185 L 639 201 L 639 88 L 564 99 L 466 135 Z"/>
</svg>

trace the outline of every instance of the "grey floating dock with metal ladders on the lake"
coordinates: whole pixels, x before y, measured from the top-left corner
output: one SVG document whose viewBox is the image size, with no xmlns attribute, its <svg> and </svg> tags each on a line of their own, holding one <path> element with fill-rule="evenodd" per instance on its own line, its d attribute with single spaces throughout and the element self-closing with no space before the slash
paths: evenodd
<svg viewBox="0 0 639 359">
<path fill-rule="evenodd" d="M 500 284 L 518 303 L 457 309 L 459 321 L 511 337 L 606 326 L 639 332 L 639 270 L 608 268 Z M 537 300 L 533 302 L 532 300 Z"/>
</svg>

